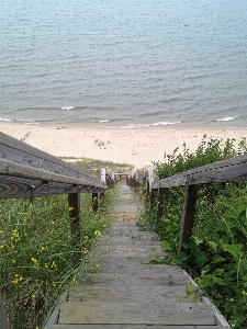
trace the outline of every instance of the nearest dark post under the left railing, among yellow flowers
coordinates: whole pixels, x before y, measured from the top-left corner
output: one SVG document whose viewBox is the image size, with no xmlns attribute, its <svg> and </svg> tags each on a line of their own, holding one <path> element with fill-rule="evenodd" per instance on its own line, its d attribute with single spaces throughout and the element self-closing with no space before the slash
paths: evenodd
<svg viewBox="0 0 247 329">
<path fill-rule="evenodd" d="M 68 206 L 69 206 L 69 217 L 70 217 L 70 229 L 71 229 L 71 240 L 72 247 L 76 247 L 81 240 L 80 231 L 80 191 L 77 185 L 76 193 L 68 194 Z M 76 254 L 76 259 L 80 257 L 80 253 Z"/>
</svg>

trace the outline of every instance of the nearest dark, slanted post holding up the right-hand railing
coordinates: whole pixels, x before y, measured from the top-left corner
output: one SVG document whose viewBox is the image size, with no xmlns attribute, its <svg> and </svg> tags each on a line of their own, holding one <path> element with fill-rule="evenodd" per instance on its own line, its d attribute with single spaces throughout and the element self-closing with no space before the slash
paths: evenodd
<svg viewBox="0 0 247 329">
<path fill-rule="evenodd" d="M 181 251 L 182 241 L 184 239 L 189 239 L 192 236 L 193 231 L 199 185 L 190 185 L 189 181 L 190 175 L 187 177 L 184 206 L 182 214 L 178 254 Z"/>
</svg>

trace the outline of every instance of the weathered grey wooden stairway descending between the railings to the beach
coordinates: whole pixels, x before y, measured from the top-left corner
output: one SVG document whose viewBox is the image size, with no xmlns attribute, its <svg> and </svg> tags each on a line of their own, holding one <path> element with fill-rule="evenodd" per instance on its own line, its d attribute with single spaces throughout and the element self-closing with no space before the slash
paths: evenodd
<svg viewBox="0 0 247 329">
<path fill-rule="evenodd" d="M 186 286 L 190 276 L 179 266 L 148 264 L 165 256 L 156 238 L 136 227 L 130 191 L 122 184 L 117 219 L 102 237 L 99 273 L 69 292 L 59 305 L 56 324 L 47 329 L 213 329 L 229 328 L 198 292 L 191 302 Z M 195 287 L 197 288 L 197 287 Z"/>
</svg>

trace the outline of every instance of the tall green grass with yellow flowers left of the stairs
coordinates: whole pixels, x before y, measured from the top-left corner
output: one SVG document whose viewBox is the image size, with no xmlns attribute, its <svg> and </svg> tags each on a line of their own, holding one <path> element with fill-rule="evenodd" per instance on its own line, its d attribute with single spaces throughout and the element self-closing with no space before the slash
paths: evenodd
<svg viewBox="0 0 247 329">
<path fill-rule="evenodd" d="M 82 162 L 91 171 L 98 166 Z M 77 246 L 67 195 L 0 201 L 0 292 L 11 328 L 42 328 L 65 290 L 96 271 L 99 260 L 89 250 L 111 225 L 116 197 L 114 189 L 108 190 L 94 214 L 91 194 L 81 195 L 82 239 Z"/>
</svg>

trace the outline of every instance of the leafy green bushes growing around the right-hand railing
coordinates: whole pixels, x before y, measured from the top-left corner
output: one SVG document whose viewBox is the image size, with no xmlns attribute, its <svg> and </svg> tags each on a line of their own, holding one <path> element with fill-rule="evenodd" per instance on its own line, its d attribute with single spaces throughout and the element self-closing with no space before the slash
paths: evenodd
<svg viewBox="0 0 247 329">
<path fill-rule="evenodd" d="M 165 156 L 165 163 L 155 162 L 159 179 L 203 164 L 246 154 L 246 139 L 225 143 L 206 136 L 194 154 L 186 145 L 180 154 Z M 156 207 L 147 206 L 142 225 L 156 230 L 169 254 L 162 263 L 181 264 L 200 284 L 234 328 L 247 328 L 247 185 L 212 183 L 200 186 L 193 236 L 178 241 L 184 203 L 184 188 L 166 189 L 164 214 L 156 220 Z"/>
</svg>

